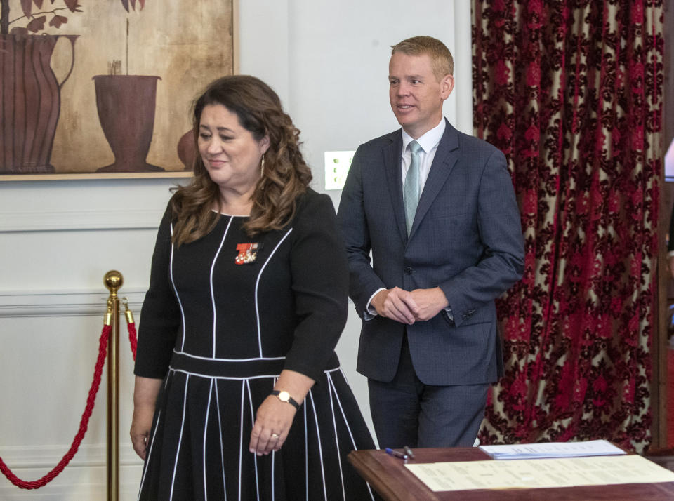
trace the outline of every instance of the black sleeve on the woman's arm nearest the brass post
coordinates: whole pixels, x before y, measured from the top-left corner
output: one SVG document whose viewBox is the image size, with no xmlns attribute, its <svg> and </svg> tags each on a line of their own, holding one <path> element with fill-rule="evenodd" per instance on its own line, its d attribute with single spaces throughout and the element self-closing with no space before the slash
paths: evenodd
<svg viewBox="0 0 674 501">
<path fill-rule="evenodd" d="M 157 243 L 152 255 L 150 288 L 140 310 L 136 366 L 133 373 L 145 378 L 164 378 L 169 370 L 176 333 L 180 326 L 180 309 L 171 288 L 171 210 L 161 219 Z"/>
</svg>

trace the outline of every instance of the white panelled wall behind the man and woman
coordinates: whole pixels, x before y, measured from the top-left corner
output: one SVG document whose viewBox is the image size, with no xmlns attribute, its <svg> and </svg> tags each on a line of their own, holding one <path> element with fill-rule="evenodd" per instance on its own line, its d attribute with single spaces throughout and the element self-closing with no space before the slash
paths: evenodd
<svg viewBox="0 0 674 501">
<path fill-rule="evenodd" d="M 466 0 L 327 3 L 239 0 L 240 71 L 270 83 L 302 131 L 314 187 L 324 150 L 355 149 L 397 127 L 388 105 L 390 45 L 436 36 L 456 58 L 445 114 L 470 132 L 470 6 Z M 77 64 L 77 63 L 76 63 Z M 91 384 L 110 269 L 137 314 L 157 224 L 176 180 L 0 182 L 0 457 L 38 479 L 67 451 Z M 339 192 L 329 192 L 338 203 Z M 355 373 L 354 312 L 338 354 L 369 420 Z M 121 329 L 121 499 L 135 499 L 140 460 L 127 440 L 133 375 Z M 20 490 L 0 476 L 3 500 L 105 499 L 105 372 L 88 432 L 71 465 L 48 486 Z"/>
</svg>

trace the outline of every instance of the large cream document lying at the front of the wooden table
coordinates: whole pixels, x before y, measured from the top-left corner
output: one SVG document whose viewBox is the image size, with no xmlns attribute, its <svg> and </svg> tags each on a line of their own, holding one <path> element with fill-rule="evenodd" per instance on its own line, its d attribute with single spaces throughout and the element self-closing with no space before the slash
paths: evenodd
<svg viewBox="0 0 674 501">
<path fill-rule="evenodd" d="M 431 490 L 553 488 L 674 482 L 674 472 L 640 455 L 405 465 Z"/>
</svg>

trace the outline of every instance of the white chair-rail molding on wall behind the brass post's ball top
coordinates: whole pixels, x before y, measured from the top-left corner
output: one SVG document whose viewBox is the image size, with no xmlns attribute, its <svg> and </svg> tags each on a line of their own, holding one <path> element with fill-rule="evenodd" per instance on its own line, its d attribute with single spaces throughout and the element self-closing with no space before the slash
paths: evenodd
<svg viewBox="0 0 674 501">
<path fill-rule="evenodd" d="M 0 318 L 103 315 L 108 295 L 100 289 L 1 291 Z M 140 313 L 145 288 L 122 288 L 119 296 L 128 298 L 131 311 Z M 120 309 L 123 309 L 121 305 Z"/>
</svg>

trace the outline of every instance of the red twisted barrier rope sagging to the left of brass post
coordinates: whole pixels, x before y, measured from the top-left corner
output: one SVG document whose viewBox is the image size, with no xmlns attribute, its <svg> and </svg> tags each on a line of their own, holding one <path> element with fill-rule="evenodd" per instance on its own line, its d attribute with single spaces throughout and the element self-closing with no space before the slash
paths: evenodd
<svg viewBox="0 0 674 501">
<path fill-rule="evenodd" d="M 111 330 L 112 326 L 103 326 L 103 332 L 100 333 L 100 340 L 98 341 L 98 359 L 96 360 L 96 366 L 93 371 L 93 381 L 91 382 L 89 395 L 88 398 L 86 399 L 86 408 L 84 409 L 84 413 L 82 413 L 82 418 L 79 422 L 79 431 L 77 432 L 74 440 L 72 441 L 72 446 L 70 446 L 70 450 L 68 450 L 68 452 L 65 453 L 60 462 L 58 462 L 58 465 L 56 465 L 54 469 L 51 470 L 51 472 L 43 476 L 41 479 L 35 481 L 21 480 L 18 476 L 12 473 L 11 469 L 9 469 L 7 465 L 5 465 L 4 461 L 0 457 L 0 472 L 2 472 L 4 476 L 6 476 L 7 479 L 11 481 L 11 483 L 13 483 L 15 486 L 20 487 L 22 489 L 37 489 L 42 486 L 46 486 L 47 483 L 51 482 L 53 479 L 55 479 L 55 477 L 58 474 L 60 474 L 60 472 L 63 471 L 63 469 L 68 465 L 70 460 L 72 460 L 72 457 L 77 453 L 77 449 L 82 443 L 82 439 L 84 439 L 84 434 L 86 433 L 86 428 L 88 427 L 89 424 L 89 417 L 91 417 L 93 404 L 96 399 L 96 394 L 98 393 L 98 387 L 100 386 L 100 375 L 101 373 L 103 373 L 103 364 L 105 363 L 105 355 L 107 352 L 107 338 L 110 337 Z M 134 332 L 136 331 L 135 326 L 133 330 Z M 131 335 L 131 329 L 129 329 L 129 335 Z M 136 349 L 133 348 L 133 342 L 131 343 L 131 346 L 135 358 Z"/>
</svg>

